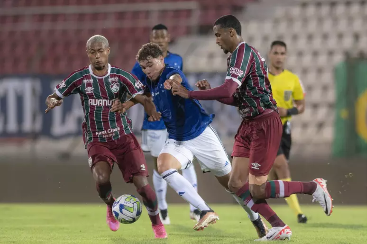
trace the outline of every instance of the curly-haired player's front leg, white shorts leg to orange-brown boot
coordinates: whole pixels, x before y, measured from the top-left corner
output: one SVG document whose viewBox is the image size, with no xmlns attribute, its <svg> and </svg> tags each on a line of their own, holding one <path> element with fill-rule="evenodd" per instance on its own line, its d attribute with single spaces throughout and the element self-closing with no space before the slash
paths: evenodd
<svg viewBox="0 0 367 244">
<path fill-rule="evenodd" d="M 204 222 L 201 223 L 200 219 L 200 225 L 196 224 L 194 226 L 195 230 L 201 230 L 206 228 L 208 224 L 215 223 L 219 218 L 199 196 L 190 182 L 178 173 L 177 170 L 189 167 L 193 160 L 192 152 L 182 144 L 183 142 L 178 143 L 172 139 L 166 141 L 158 156 L 158 171 L 178 195 L 198 208 L 201 211 L 201 215 L 204 215 Z"/>
</svg>

